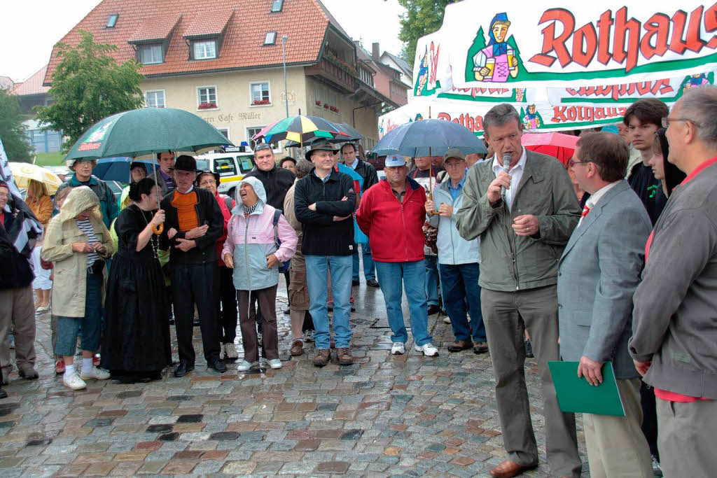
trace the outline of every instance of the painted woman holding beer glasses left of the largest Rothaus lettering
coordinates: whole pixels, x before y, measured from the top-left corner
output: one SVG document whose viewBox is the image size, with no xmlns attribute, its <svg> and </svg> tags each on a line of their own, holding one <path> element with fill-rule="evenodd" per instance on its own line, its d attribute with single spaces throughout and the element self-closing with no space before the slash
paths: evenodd
<svg viewBox="0 0 717 478">
<path fill-rule="evenodd" d="M 503 83 L 518 76 L 518 47 L 513 37 L 508 37 L 509 27 L 511 22 L 507 14 L 493 16 L 488 45 L 483 37 L 483 27 L 478 29 L 473 46 L 468 50 L 469 59 L 473 57 L 473 78 L 466 80 Z"/>
</svg>

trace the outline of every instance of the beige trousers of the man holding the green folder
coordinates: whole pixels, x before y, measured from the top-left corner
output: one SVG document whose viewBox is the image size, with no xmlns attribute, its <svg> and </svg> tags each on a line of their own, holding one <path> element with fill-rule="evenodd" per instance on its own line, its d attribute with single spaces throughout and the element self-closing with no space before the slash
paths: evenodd
<svg viewBox="0 0 717 478">
<path fill-rule="evenodd" d="M 592 478 L 653 478 L 650 446 L 642 434 L 640 378 L 617 380 L 625 416 L 583 414 Z"/>
</svg>

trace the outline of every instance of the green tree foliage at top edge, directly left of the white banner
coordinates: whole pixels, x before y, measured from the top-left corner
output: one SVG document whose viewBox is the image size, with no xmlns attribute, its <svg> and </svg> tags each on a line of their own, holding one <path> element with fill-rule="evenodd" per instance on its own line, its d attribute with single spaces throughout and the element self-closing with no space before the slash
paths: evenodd
<svg viewBox="0 0 717 478">
<path fill-rule="evenodd" d="M 406 9 L 401 16 L 401 32 L 399 39 L 404 42 L 401 52 L 411 66 L 416 58 L 416 43 L 420 37 L 440 29 L 443 24 L 443 14 L 447 4 L 455 0 L 399 0 L 399 4 Z"/>
</svg>

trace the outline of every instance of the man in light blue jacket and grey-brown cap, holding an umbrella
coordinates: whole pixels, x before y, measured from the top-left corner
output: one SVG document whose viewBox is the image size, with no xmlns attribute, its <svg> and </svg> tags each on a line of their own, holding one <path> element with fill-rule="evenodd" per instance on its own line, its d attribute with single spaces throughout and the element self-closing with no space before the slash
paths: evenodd
<svg viewBox="0 0 717 478">
<path fill-rule="evenodd" d="M 455 342 L 450 352 L 473 347 L 474 353 L 488 352 L 483 314 L 480 312 L 480 239 L 466 241 L 455 223 L 455 212 L 463 202 L 463 183 L 467 173 L 465 155 L 460 149 L 447 150 L 443 156 L 448 181 L 433 189 L 433 199 L 426 201 L 429 222 L 438 228 L 438 269 L 443 304 L 450 317 Z M 467 302 L 467 310 L 466 310 Z M 470 310 L 470 323 L 467 312 Z"/>
</svg>

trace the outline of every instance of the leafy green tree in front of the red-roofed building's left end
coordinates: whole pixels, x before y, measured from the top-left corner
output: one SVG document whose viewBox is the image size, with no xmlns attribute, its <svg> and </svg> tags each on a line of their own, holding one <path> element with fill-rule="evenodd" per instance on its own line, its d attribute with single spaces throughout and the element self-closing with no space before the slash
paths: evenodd
<svg viewBox="0 0 717 478">
<path fill-rule="evenodd" d="M 92 34 L 83 30 L 80 35 L 75 48 L 57 44 L 60 63 L 48 93 L 54 102 L 37 108 L 37 117 L 47 129 L 65 135 L 64 150 L 99 120 L 143 105 L 141 64 L 135 59 L 117 64 L 110 56 L 117 51 L 115 45 L 95 43 Z"/>
</svg>

